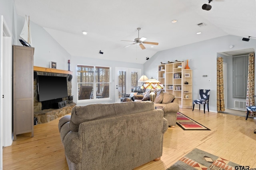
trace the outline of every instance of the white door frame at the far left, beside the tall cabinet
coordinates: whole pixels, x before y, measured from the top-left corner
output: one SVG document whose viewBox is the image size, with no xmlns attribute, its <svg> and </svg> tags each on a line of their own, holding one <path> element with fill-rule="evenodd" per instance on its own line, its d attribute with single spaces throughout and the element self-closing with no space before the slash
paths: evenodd
<svg viewBox="0 0 256 170">
<path fill-rule="evenodd" d="M 1 16 L 0 54 L 0 169 L 3 147 L 12 145 L 12 35 Z"/>
</svg>

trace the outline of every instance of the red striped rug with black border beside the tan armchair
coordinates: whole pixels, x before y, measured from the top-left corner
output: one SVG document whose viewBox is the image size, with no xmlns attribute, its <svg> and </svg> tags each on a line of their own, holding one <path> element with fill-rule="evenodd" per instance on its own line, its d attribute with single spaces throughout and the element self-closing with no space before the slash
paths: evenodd
<svg viewBox="0 0 256 170">
<path fill-rule="evenodd" d="M 190 119 L 188 116 L 178 112 L 176 124 L 183 130 L 210 130 L 207 127 L 201 125 L 200 123 Z"/>
</svg>

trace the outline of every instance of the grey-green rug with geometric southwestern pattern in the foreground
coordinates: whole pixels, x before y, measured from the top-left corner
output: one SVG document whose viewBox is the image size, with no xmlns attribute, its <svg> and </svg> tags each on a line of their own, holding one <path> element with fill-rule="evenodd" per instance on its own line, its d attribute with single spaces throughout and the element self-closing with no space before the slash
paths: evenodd
<svg viewBox="0 0 256 170">
<path fill-rule="evenodd" d="M 239 166 L 203 150 L 193 149 L 166 170 L 238 170 Z"/>
</svg>

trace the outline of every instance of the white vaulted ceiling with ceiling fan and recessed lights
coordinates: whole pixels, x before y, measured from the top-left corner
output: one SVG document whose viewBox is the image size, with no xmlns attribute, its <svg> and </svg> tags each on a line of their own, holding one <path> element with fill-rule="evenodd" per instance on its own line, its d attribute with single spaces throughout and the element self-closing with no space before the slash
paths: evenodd
<svg viewBox="0 0 256 170">
<path fill-rule="evenodd" d="M 207 39 L 256 37 L 256 0 L 213 0 L 209 11 L 202 10 L 208 0 L 14 2 L 18 15 L 30 16 L 30 21 L 44 27 L 72 56 L 143 64 L 158 51 Z M 199 23 L 205 26 L 199 27 Z M 138 37 L 137 27 L 140 37 L 159 45 L 144 44 L 144 50 L 137 44 L 125 47 Z M 82 31 L 88 34 L 82 35 Z"/>
</svg>

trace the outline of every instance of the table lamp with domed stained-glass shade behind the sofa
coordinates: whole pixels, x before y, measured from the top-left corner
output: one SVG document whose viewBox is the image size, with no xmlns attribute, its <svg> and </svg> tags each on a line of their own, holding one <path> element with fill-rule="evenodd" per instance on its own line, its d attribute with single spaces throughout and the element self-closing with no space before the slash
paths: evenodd
<svg viewBox="0 0 256 170">
<path fill-rule="evenodd" d="M 149 94 L 149 98 L 150 101 L 154 102 L 156 99 L 156 94 L 154 93 L 155 89 L 163 89 L 164 85 L 159 82 L 158 80 L 154 79 L 153 77 L 151 77 L 150 79 L 146 80 L 142 85 L 141 88 L 148 88 L 150 89 L 150 94 Z"/>
</svg>

